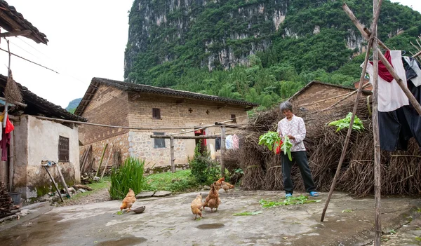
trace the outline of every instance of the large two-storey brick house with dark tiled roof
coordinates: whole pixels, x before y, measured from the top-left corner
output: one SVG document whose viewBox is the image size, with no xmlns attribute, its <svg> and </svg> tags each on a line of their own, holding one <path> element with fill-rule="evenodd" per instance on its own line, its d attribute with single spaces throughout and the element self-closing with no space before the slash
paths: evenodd
<svg viewBox="0 0 421 246">
<path fill-rule="evenodd" d="M 247 111 L 255 106 L 257 104 L 213 95 L 93 78 L 74 114 L 87 118 L 90 123 L 126 127 L 79 127 L 79 139 L 84 146 L 92 145 L 95 163 L 98 164 L 108 143 L 114 150 L 121 151 L 123 158 L 137 156 L 151 167 L 170 165 L 171 158 L 170 140 L 152 139 L 150 135 L 182 132 L 188 132 L 186 136 L 216 135 L 220 128 L 194 129 L 231 119 L 232 123 L 245 123 Z M 127 129 L 129 127 L 173 129 Z M 197 142 L 195 139 L 175 139 L 175 164 L 187 163 Z M 205 142 L 208 150 L 210 144 L 215 146 L 215 139 L 202 143 Z"/>
</svg>

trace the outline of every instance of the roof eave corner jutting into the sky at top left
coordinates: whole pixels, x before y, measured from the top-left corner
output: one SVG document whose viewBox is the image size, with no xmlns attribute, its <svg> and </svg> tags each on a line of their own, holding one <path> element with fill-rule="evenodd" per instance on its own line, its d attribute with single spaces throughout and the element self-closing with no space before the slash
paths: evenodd
<svg viewBox="0 0 421 246">
<path fill-rule="evenodd" d="M 39 32 L 39 30 L 23 18 L 23 15 L 16 11 L 16 8 L 9 6 L 4 0 L 0 0 L 0 27 L 3 27 L 8 32 L 20 32 L 30 30 L 31 32 L 24 35 L 28 39 L 32 39 L 36 43 L 47 44 L 48 39 L 46 34 Z"/>
</svg>

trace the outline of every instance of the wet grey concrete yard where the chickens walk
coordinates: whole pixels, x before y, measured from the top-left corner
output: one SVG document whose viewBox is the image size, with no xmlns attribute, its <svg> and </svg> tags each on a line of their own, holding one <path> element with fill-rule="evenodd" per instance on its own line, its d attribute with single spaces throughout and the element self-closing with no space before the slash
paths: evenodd
<svg viewBox="0 0 421 246">
<path fill-rule="evenodd" d="M 222 190 L 221 190 L 222 191 Z M 207 193 L 207 192 L 205 192 Z M 321 203 L 262 208 L 260 199 L 278 200 L 274 191 L 220 192 L 218 212 L 203 212 L 194 221 L 190 203 L 197 193 L 138 200 L 133 207 L 145 212 L 116 214 L 121 203 L 109 201 L 88 205 L 55 207 L 36 219 L 0 231 L 1 245 L 370 245 L 374 238 L 373 198 L 354 199 L 334 193 L 320 222 L 327 198 Z M 298 196 L 295 193 L 294 196 Z M 206 196 L 206 195 L 205 195 Z M 314 198 L 311 198 L 314 199 Z M 203 196 L 204 200 L 204 196 Z M 421 200 L 382 198 L 382 228 L 392 231 L 408 224 L 418 214 Z M 344 211 L 345 210 L 345 211 Z M 262 211 L 253 216 L 236 212 Z M 419 225 L 417 225 L 419 226 Z M 407 226 L 405 226 L 407 227 Z M 408 228 L 415 230 L 414 226 Z M 419 227 L 417 227 L 419 228 Z M 417 245 L 416 236 L 408 242 Z M 387 243 L 398 242 L 390 238 Z"/>
</svg>

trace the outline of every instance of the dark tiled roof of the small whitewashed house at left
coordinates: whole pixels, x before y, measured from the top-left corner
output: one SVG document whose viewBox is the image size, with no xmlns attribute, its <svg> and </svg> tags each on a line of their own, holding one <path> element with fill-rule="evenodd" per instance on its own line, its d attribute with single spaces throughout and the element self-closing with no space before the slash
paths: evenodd
<svg viewBox="0 0 421 246">
<path fill-rule="evenodd" d="M 3 91 L 6 87 L 6 82 L 7 76 L 0 74 L 0 87 Z M 34 116 L 41 114 L 47 117 L 62 118 L 70 121 L 87 121 L 86 118 L 76 116 L 67 111 L 66 109 L 63 109 L 62 107 L 55 105 L 52 102 L 48 102 L 48 100 L 45 100 L 44 98 L 35 95 L 30 90 L 28 90 L 28 88 L 22 86 L 20 83 L 16 84 L 22 92 L 24 103 L 27 104 L 27 107 L 25 109 L 22 109 L 24 111 L 24 114 Z"/>
</svg>

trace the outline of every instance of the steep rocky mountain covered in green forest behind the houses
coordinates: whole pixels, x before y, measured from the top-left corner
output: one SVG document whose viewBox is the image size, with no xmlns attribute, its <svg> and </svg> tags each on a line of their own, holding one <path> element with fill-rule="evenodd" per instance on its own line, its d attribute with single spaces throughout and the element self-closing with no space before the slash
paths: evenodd
<svg viewBox="0 0 421 246">
<path fill-rule="evenodd" d="M 369 27 L 371 0 L 346 0 Z M 350 86 L 366 41 L 335 0 L 135 0 L 126 81 L 267 107 L 314 79 Z M 415 53 L 421 14 L 383 1 L 378 34 Z"/>
</svg>

